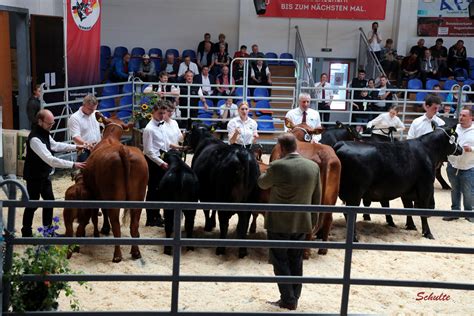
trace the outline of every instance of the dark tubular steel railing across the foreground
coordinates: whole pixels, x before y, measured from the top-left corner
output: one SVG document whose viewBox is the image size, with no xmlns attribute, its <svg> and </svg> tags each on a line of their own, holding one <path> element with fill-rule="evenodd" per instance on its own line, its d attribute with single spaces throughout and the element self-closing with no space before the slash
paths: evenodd
<svg viewBox="0 0 474 316">
<path fill-rule="evenodd" d="M 7 182 L 0 183 L 0 186 Z M 282 277 L 282 276 L 241 276 L 241 275 L 183 275 L 180 271 L 181 251 L 173 251 L 173 269 L 171 275 L 140 274 L 140 275 L 116 275 L 116 274 L 48 274 L 48 275 L 24 275 L 21 281 L 101 281 L 101 282 L 171 282 L 170 308 L 166 311 L 111 311 L 111 312 L 79 312 L 75 314 L 88 315 L 144 315 L 144 314 L 172 314 L 172 315 L 308 315 L 308 313 L 255 313 L 255 312 L 187 312 L 179 310 L 179 285 L 181 282 L 234 282 L 234 283 L 310 283 L 310 284 L 338 284 L 342 285 L 341 303 L 339 313 L 347 315 L 350 298 L 350 287 L 352 285 L 372 286 L 396 286 L 396 287 L 425 287 L 456 290 L 474 290 L 472 280 L 466 282 L 443 282 L 443 281 L 411 281 L 396 279 L 373 279 L 351 277 L 352 253 L 354 250 L 371 251 L 406 251 L 406 252 L 433 252 L 433 253 L 456 253 L 474 254 L 473 247 L 451 247 L 451 246 L 423 246 L 404 244 L 368 244 L 353 243 L 354 223 L 357 213 L 368 214 L 392 214 L 392 215 L 417 215 L 417 216 L 459 216 L 474 218 L 473 212 L 440 211 L 424 209 L 395 209 L 395 208 L 361 208 L 343 206 L 313 206 L 313 205 L 276 205 L 276 204 L 224 204 L 224 203 L 187 203 L 187 202 L 125 202 L 125 201 L 30 201 L 23 185 L 10 180 L 9 185 L 16 185 L 22 192 L 22 200 L 5 200 L 3 206 L 8 207 L 8 225 L 5 230 L 5 238 L 2 245 L 6 247 L 4 252 L 4 270 L 2 279 L 12 263 L 13 247 L 15 245 L 166 245 L 180 249 L 185 246 L 228 246 L 228 247 L 252 247 L 252 248 L 327 248 L 341 249 L 345 251 L 343 276 L 340 277 Z M 14 198 L 14 197 L 10 197 Z M 18 207 L 75 207 L 75 208 L 153 208 L 173 209 L 174 212 L 174 237 L 173 238 L 16 238 L 15 217 Z M 272 212 L 336 212 L 347 215 L 346 240 L 345 242 L 317 242 L 317 241 L 274 241 L 274 240 L 239 240 L 239 239 L 199 239 L 181 237 L 181 215 L 183 209 L 218 209 L 220 211 L 272 211 Z M 2 219 L 2 218 L 0 218 Z M 3 226 L 3 222 L 0 222 Z M 469 282 L 471 281 L 471 283 Z M 13 315 L 8 312 L 9 286 L 3 283 L 3 312 L 5 315 Z M 31 313 L 34 314 L 34 313 Z M 59 314 L 68 314 L 61 312 Z M 317 313 L 311 313 L 315 315 Z"/>
</svg>

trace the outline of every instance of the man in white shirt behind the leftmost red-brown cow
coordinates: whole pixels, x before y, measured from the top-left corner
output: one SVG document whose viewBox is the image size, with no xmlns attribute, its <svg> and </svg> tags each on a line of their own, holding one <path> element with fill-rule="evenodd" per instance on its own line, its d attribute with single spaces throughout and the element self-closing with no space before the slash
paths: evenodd
<svg viewBox="0 0 474 316">
<path fill-rule="evenodd" d="M 90 150 L 100 139 L 100 125 L 95 117 L 98 101 L 88 94 L 82 101 L 82 106 L 69 118 L 67 125 L 69 134 L 76 145 L 82 145 L 84 150 L 78 154 L 77 161 L 86 161 Z"/>
</svg>

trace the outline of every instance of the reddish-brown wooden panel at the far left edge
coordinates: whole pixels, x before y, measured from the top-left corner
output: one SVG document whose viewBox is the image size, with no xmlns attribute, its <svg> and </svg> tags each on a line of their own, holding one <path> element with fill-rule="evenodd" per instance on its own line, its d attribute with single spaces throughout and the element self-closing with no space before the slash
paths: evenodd
<svg viewBox="0 0 474 316">
<path fill-rule="evenodd" d="M 8 12 L 0 11 L 0 105 L 3 106 L 3 128 L 13 128 L 12 69 Z"/>
</svg>

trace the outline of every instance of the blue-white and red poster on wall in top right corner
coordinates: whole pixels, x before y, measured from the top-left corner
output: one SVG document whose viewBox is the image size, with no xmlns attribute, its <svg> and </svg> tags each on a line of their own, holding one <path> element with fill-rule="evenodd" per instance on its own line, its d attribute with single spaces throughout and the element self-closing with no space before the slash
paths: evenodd
<svg viewBox="0 0 474 316">
<path fill-rule="evenodd" d="M 474 36 L 468 7 L 467 0 L 418 0 L 418 36 Z"/>
</svg>

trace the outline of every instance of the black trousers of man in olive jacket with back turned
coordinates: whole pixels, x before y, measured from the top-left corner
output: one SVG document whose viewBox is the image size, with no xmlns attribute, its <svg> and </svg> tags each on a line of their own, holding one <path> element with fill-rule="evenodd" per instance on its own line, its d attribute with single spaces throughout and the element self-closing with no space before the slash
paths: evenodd
<svg viewBox="0 0 474 316">
<path fill-rule="evenodd" d="M 270 240 L 305 240 L 305 234 L 284 234 L 267 232 Z M 270 261 L 273 264 L 275 275 L 302 276 L 303 249 L 270 248 Z M 297 304 L 301 296 L 301 283 L 278 283 L 280 299 L 286 304 Z"/>
</svg>

